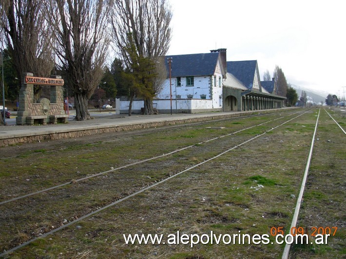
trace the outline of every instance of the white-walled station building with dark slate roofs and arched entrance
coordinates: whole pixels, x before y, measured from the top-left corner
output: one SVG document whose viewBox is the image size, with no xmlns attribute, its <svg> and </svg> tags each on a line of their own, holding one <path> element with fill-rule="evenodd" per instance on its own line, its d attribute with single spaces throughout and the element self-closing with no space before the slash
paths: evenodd
<svg viewBox="0 0 346 259">
<path fill-rule="evenodd" d="M 226 49 L 165 60 L 167 79 L 153 102 L 159 113 L 171 107 L 174 113 L 276 109 L 286 99 L 276 94 L 274 81 L 260 80 L 257 60 L 227 62 Z M 121 113 L 128 112 L 128 103 L 121 101 Z M 141 107 L 143 101 L 134 101 L 133 112 Z"/>
</svg>

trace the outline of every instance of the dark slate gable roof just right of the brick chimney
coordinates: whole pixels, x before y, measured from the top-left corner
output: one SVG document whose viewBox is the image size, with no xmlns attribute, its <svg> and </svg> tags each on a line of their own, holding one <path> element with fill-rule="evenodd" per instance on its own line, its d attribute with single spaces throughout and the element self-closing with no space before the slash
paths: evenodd
<svg viewBox="0 0 346 259">
<path fill-rule="evenodd" d="M 228 61 L 227 72 L 233 74 L 248 89 L 252 88 L 257 60 Z"/>
</svg>

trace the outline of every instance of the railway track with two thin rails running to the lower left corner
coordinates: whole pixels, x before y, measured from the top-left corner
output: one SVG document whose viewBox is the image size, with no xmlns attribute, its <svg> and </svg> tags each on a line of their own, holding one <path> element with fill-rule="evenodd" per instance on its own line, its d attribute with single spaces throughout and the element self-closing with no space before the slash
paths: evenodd
<svg viewBox="0 0 346 259">
<path fill-rule="evenodd" d="M 269 132 L 282 127 L 283 125 L 299 118 L 307 112 L 309 111 L 300 112 L 299 115 L 293 115 L 293 113 L 288 114 L 288 116 L 292 116 L 292 118 L 290 118 L 289 120 L 285 118 L 286 116 L 280 116 L 269 121 L 239 129 L 234 132 L 218 135 L 211 139 L 204 139 L 203 141 L 199 141 L 193 145 L 175 149 L 163 155 L 155 156 L 149 159 L 143 159 L 135 163 L 127 164 L 125 166 L 119 166 L 116 168 L 112 168 L 111 170 L 102 171 L 97 174 L 92 174 L 87 177 L 66 182 L 62 185 L 55 185 L 50 188 L 3 201 L 0 203 L 0 205 L 3 207 L 3 210 L 1 211 L 1 216 L 3 217 L 1 218 L 3 218 L 4 221 L 11 221 L 10 218 L 16 217 L 19 223 L 18 226 L 20 226 L 20 224 L 27 225 L 28 221 L 25 221 L 25 215 L 28 215 L 35 208 L 41 207 L 42 204 L 44 204 L 46 207 L 38 209 L 37 215 L 33 217 L 34 219 L 29 220 L 29 222 L 31 222 L 29 223 L 29 225 L 33 222 L 37 222 L 40 218 L 42 218 L 41 221 L 47 221 L 48 218 L 49 224 L 52 224 L 52 226 L 54 224 L 56 226 L 53 226 L 52 229 L 50 226 L 47 226 L 49 224 L 43 224 L 46 225 L 44 226 L 44 229 L 42 230 L 41 228 L 41 231 L 39 233 L 34 233 L 35 231 L 32 232 L 34 234 L 30 235 L 30 240 L 22 242 L 17 246 L 14 246 L 14 242 L 12 242 L 12 246 L 14 246 L 12 249 L 8 249 L 11 248 L 11 242 L 9 242 L 9 245 L 7 247 L 8 250 L 1 254 L 1 256 L 12 253 L 17 249 L 37 240 L 38 238 L 44 238 L 46 236 L 52 235 L 53 233 L 69 227 L 72 224 L 76 224 L 77 222 L 90 218 L 107 208 L 133 198 L 138 194 L 156 187 L 157 185 L 162 185 L 166 182 L 169 182 L 169 180 L 175 178 L 178 175 L 193 170 L 197 167 L 199 168 L 202 165 L 210 163 L 215 159 L 219 159 L 221 156 L 224 156 L 231 150 L 247 145 L 249 142 L 252 142 L 258 138 L 263 138 Z M 238 134 L 239 136 L 234 137 L 235 134 Z M 187 160 L 188 163 L 185 162 Z M 172 161 L 174 161 L 174 163 Z M 193 161 L 193 163 L 191 163 L 191 161 Z M 157 170 L 157 167 L 161 168 L 161 170 L 159 173 L 154 173 L 155 169 Z M 119 171 L 119 173 L 115 173 L 115 171 Z M 140 173 L 136 175 L 134 172 Z M 126 175 L 128 179 L 124 180 L 124 175 Z M 147 176 L 144 181 L 141 179 L 141 177 L 143 176 Z M 134 180 L 137 180 L 140 183 L 134 183 Z M 122 188 L 116 190 L 113 197 L 107 197 L 109 194 L 108 190 L 111 190 L 112 186 L 114 186 L 114 184 L 118 182 L 121 182 L 120 185 L 122 185 Z M 91 193 L 94 191 L 98 192 L 98 194 L 96 195 L 98 198 L 95 198 L 91 195 Z M 62 205 L 62 203 L 65 203 L 65 199 L 57 202 L 56 197 L 64 197 L 62 193 L 65 194 L 67 198 L 66 200 L 72 200 L 67 203 L 69 204 L 68 206 L 71 207 L 70 210 L 72 210 L 72 213 L 70 212 L 65 215 L 60 215 L 58 213 L 58 208 Z M 78 193 L 80 199 L 75 199 L 74 197 L 78 196 Z M 81 195 L 80 193 L 83 194 Z M 86 194 L 86 196 L 84 196 L 84 193 Z M 107 198 L 100 199 L 99 196 Z M 85 204 L 82 202 L 83 200 L 89 200 L 90 198 L 94 198 L 95 200 L 93 205 L 90 206 L 88 203 Z M 12 206 L 12 203 L 15 203 L 16 205 Z M 91 201 L 91 203 L 93 203 L 93 201 Z M 88 211 L 88 209 L 85 210 L 85 205 L 90 206 L 88 209 L 91 211 Z M 13 210 L 14 207 L 14 210 L 18 210 L 20 207 L 21 210 L 19 209 L 19 212 L 16 212 Z M 81 207 L 83 208 L 81 209 Z M 55 213 L 56 216 L 47 216 L 48 212 L 53 212 L 53 214 Z M 8 215 L 11 213 L 13 213 L 15 216 L 11 215 L 9 217 Z M 23 214 L 22 217 L 19 214 Z M 57 221 L 61 218 L 73 220 L 68 220 L 66 222 L 61 222 L 61 220 L 60 222 Z M 1 224 L 3 224 L 3 222 Z M 8 231 L 8 234 L 10 234 L 13 227 L 17 229 L 19 228 L 15 225 L 12 225 L 6 227 L 5 231 Z M 33 229 L 29 227 L 25 232 L 30 233 L 30 231 L 33 231 Z M 13 232 L 14 231 L 12 230 L 12 235 L 15 234 Z M 10 239 L 14 240 L 13 238 Z"/>
</svg>

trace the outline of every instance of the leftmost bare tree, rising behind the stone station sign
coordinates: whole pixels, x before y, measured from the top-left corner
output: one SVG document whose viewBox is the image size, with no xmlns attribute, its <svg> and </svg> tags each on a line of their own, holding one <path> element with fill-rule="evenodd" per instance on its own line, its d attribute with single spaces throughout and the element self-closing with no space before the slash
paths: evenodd
<svg viewBox="0 0 346 259">
<path fill-rule="evenodd" d="M 25 72 L 49 76 L 53 67 L 52 29 L 40 0 L 4 0 L 1 26 L 18 78 Z M 35 99 L 41 87 L 35 86 Z"/>
</svg>

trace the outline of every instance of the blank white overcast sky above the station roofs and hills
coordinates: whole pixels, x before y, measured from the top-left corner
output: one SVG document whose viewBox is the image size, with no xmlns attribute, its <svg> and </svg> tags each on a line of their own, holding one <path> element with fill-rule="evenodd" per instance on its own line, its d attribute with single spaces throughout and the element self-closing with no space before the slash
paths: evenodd
<svg viewBox="0 0 346 259">
<path fill-rule="evenodd" d="M 346 1 L 170 1 L 168 55 L 226 48 L 227 61 L 257 60 L 261 80 L 278 65 L 293 85 L 346 92 Z"/>
</svg>

